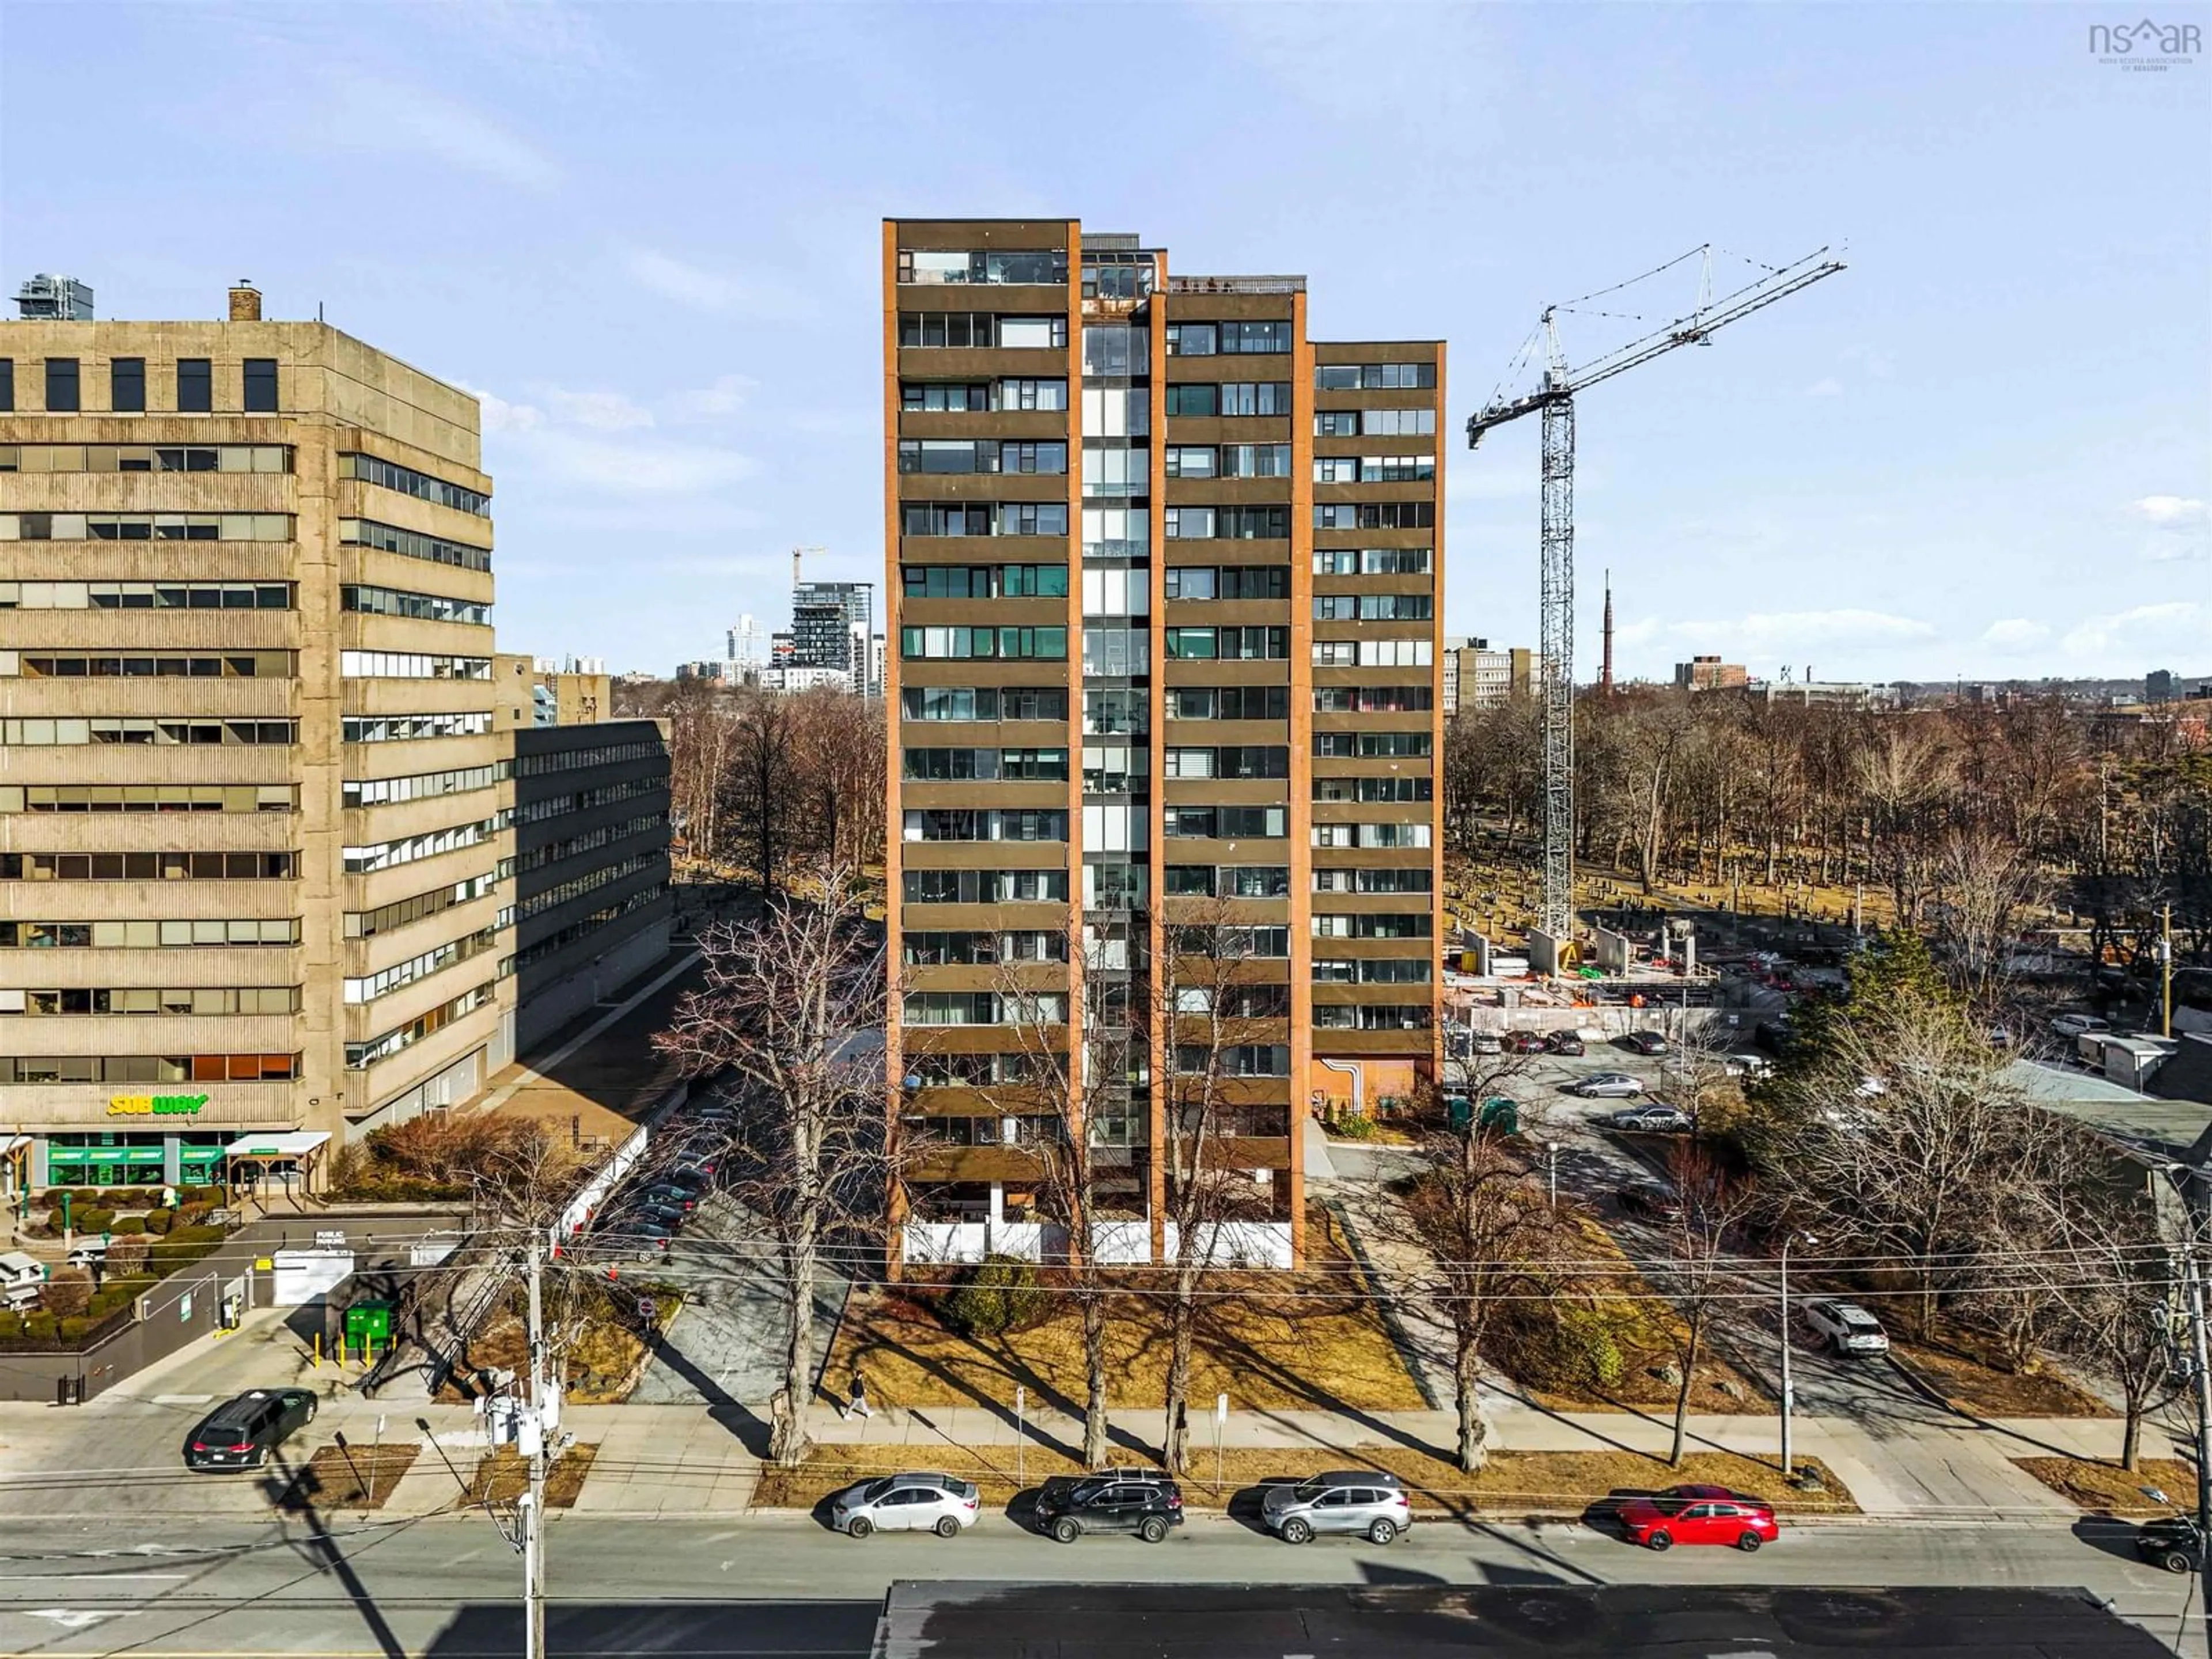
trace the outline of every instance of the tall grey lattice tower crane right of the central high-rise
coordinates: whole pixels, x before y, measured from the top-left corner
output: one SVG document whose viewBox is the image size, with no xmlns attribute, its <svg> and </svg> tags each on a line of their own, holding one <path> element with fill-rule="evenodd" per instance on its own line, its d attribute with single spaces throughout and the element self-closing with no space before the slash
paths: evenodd
<svg viewBox="0 0 2212 1659">
<path fill-rule="evenodd" d="M 1566 365 L 1557 323 L 1562 310 L 1641 283 L 1646 276 L 1657 276 L 1692 257 L 1703 259 L 1694 312 L 1579 369 Z M 1761 276 L 1714 301 L 1712 243 L 1705 243 L 1681 259 L 1644 272 L 1644 276 L 1632 276 L 1630 283 L 1615 283 L 1564 305 L 1546 305 L 1537 323 L 1544 336 L 1544 378 L 1537 389 L 1522 396 L 1509 396 L 1500 389 L 1480 414 L 1467 418 L 1467 447 L 1473 449 L 1491 427 L 1520 420 L 1524 414 L 1542 411 L 1544 416 L 1544 575 L 1537 628 L 1537 681 L 1544 697 L 1544 902 L 1537 925 L 1562 951 L 1575 933 L 1575 394 L 1650 363 L 1677 345 L 1710 345 L 1714 330 L 1809 288 L 1823 276 L 1834 276 L 1838 270 L 1843 270 L 1843 261 L 1820 248 L 1794 265 L 1761 265 Z M 1526 356 L 1528 347 L 1524 345 L 1515 369 Z M 1511 374 L 1513 369 L 1509 369 Z"/>
</svg>

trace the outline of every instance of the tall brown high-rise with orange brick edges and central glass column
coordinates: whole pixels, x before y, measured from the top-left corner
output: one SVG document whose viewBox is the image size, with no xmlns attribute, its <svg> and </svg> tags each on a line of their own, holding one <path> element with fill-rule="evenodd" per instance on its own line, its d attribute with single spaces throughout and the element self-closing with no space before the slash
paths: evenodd
<svg viewBox="0 0 2212 1659">
<path fill-rule="evenodd" d="M 1221 995 L 1239 1252 L 1290 1261 L 1307 1113 L 1438 1064 L 1444 349 L 1316 343 L 1301 276 L 1075 221 L 889 221 L 883 257 L 902 1254 L 1033 1217 L 1048 1128 L 993 1108 L 1024 1000 L 1104 1077 L 1099 1208 L 1159 1252 Z"/>
</svg>

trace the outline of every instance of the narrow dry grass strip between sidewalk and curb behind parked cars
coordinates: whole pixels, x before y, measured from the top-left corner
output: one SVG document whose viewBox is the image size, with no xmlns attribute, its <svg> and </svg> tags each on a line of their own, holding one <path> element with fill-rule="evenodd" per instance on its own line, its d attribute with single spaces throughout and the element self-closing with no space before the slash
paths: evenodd
<svg viewBox="0 0 2212 1659">
<path fill-rule="evenodd" d="M 1135 1458 L 1128 1467 L 1150 1467 Z M 1812 1462 L 1812 1460 L 1807 1460 Z M 1818 1467 L 1818 1464 L 1816 1464 Z M 757 1509 L 812 1509 L 834 1491 L 867 1475 L 902 1469 L 938 1469 L 982 1489 L 987 1506 L 1004 1509 L 1018 1493 L 1035 1489 L 1051 1475 L 1084 1473 L 1079 1464 L 1042 1447 L 1022 1455 L 1024 1482 L 1015 1482 L 1013 1447 L 945 1447 L 927 1453 L 918 1447 L 814 1447 L 807 1462 L 794 1469 L 761 1469 L 754 1493 Z M 1774 1464 L 1739 1458 L 1728 1451 L 1692 1451 L 1679 1469 L 1663 1458 L 1632 1451 L 1495 1451 L 1480 1475 L 1467 1475 L 1449 1458 L 1411 1447 L 1360 1447 L 1358 1451 L 1267 1451 L 1239 1447 L 1223 1453 L 1223 1484 L 1214 1484 L 1212 1451 L 1199 1453 L 1192 1473 L 1181 1482 L 1183 1498 L 1197 1509 L 1221 1509 L 1265 1480 L 1303 1478 L 1323 1469 L 1387 1469 L 1405 1478 L 1413 1506 L 1431 1515 L 1559 1515 L 1582 1513 L 1593 1502 L 1613 1495 L 1648 1493 L 1681 1482 L 1710 1482 L 1767 1498 L 1783 1515 L 1854 1515 L 1858 1506 L 1849 1491 L 1825 1469 L 1823 1491 L 1798 1493 L 1783 1486 Z"/>
</svg>

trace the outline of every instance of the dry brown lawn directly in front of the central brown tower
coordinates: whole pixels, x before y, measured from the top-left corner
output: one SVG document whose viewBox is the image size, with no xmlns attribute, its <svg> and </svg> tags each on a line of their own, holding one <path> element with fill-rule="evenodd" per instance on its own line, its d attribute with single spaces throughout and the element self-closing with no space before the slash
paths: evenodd
<svg viewBox="0 0 2212 1659">
<path fill-rule="evenodd" d="M 1310 1272 L 1208 1279 L 1212 1298 L 1199 1307 L 1192 1400 L 1228 1394 L 1237 1407 L 1418 1411 L 1420 1391 L 1376 1305 L 1365 1301 L 1367 1281 L 1325 1210 L 1307 1210 L 1305 1241 Z M 1115 1283 L 1155 1290 L 1161 1274 L 1130 1272 Z M 878 1407 L 1011 1407 L 1015 1387 L 1026 1387 L 1040 1407 L 1082 1411 L 1084 1340 L 1075 1307 L 1057 1305 L 1044 1321 L 1004 1336 L 962 1336 L 938 1318 L 942 1301 L 945 1287 L 929 1285 L 854 1292 L 823 1371 L 825 1398 L 841 1400 L 858 1369 Z M 1113 1296 L 1106 1354 L 1113 1402 L 1157 1407 L 1168 1376 L 1166 1298 Z"/>
</svg>

